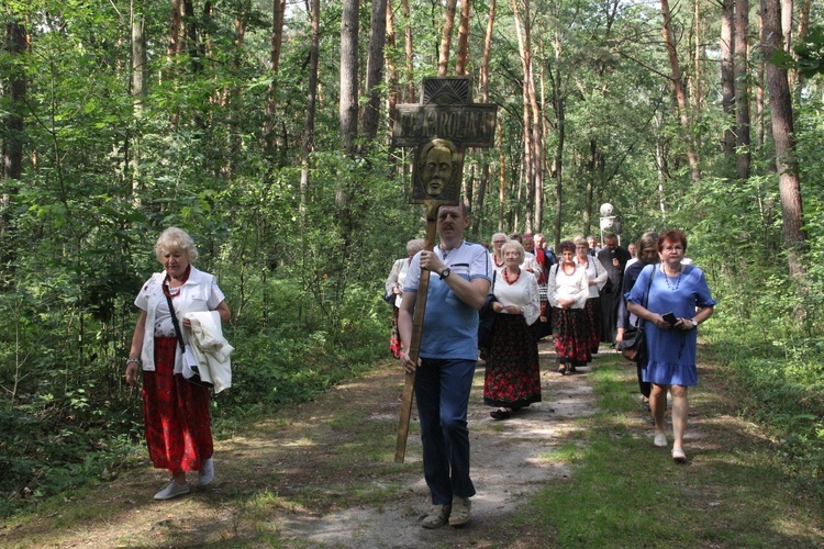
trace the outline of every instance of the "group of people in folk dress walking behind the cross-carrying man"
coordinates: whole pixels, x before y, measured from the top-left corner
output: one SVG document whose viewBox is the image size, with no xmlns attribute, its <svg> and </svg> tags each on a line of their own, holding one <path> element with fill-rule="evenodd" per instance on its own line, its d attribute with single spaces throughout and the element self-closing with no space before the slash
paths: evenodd
<svg viewBox="0 0 824 549">
<path fill-rule="evenodd" d="M 410 240 L 408 257 L 394 262 L 386 280 L 386 299 L 394 305 L 390 350 L 396 358 L 405 269 L 423 247 L 422 239 Z M 552 336 L 561 376 L 589 365 L 601 343 L 615 345 L 623 271 L 632 257 L 614 234 L 605 236 L 603 249 L 593 237 L 563 240 L 557 255 L 542 234 L 495 233 L 487 247 L 494 322 L 479 349 L 486 362 L 483 402 L 494 407 L 493 418 L 506 419 L 541 402 L 539 339 Z"/>
</svg>

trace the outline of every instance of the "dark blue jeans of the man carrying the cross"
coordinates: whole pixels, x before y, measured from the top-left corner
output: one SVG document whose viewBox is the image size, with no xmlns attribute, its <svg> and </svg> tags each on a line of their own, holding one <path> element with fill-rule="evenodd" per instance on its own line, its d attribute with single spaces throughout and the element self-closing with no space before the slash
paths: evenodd
<svg viewBox="0 0 824 549">
<path fill-rule="evenodd" d="M 475 360 L 424 358 L 415 374 L 423 474 L 433 505 L 450 505 L 454 495 L 475 495 L 466 421 L 475 365 Z"/>
</svg>

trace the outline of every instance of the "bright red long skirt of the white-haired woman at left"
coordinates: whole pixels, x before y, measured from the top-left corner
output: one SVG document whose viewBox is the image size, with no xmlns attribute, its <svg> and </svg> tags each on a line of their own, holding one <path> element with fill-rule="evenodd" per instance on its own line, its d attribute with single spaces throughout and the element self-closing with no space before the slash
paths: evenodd
<svg viewBox="0 0 824 549">
<path fill-rule="evenodd" d="M 155 337 L 155 371 L 143 372 L 148 457 L 157 469 L 199 471 L 212 457 L 209 389 L 174 373 L 177 338 Z"/>
</svg>

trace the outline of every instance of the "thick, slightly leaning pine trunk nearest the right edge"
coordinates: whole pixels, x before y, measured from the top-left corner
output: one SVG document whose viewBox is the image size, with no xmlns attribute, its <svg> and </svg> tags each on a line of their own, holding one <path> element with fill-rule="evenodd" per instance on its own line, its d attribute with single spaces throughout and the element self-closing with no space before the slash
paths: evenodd
<svg viewBox="0 0 824 549">
<path fill-rule="evenodd" d="M 776 49 L 781 47 L 781 4 L 779 1 L 761 0 L 761 18 L 766 37 L 762 43 L 765 58 L 769 58 Z M 784 245 L 788 250 L 790 274 L 798 280 L 804 274 L 801 251 L 806 235 L 803 231 L 801 180 L 795 160 L 792 98 L 787 71 L 771 63 L 767 64 L 767 89 L 772 119 L 772 138 L 776 144 Z"/>
</svg>

